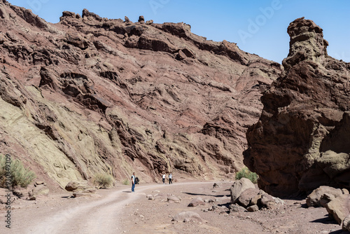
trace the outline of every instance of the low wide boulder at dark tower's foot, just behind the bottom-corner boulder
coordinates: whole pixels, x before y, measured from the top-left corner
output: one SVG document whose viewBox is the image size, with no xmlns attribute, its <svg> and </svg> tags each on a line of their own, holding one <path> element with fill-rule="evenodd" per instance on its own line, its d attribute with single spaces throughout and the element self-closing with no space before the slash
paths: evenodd
<svg viewBox="0 0 350 234">
<path fill-rule="evenodd" d="M 346 193 L 346 190 L 340 188 L 332 188 L 330 186 L 321 186 L 316 188 L 310 195 L 307 196 L 308 207 L 325 207 L 325 205 L 337 198 L 339 195 Z M 349 191 L 348 191 L 349 194 Z"/>
</svg>

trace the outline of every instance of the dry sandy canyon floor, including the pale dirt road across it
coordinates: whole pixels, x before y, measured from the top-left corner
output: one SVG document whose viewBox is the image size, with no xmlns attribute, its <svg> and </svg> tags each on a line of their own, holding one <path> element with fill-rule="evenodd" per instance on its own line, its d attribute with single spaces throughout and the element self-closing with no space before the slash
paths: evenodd
<svg viewBox="0 0 350 234">
<path fill-rule="evenodd" d="M 328 218 L 325 208 L 304 208 L 305 200 L 284 200 L 285 205 L 258 212 L 228 214 L 232 182 L 176 182 L 144 184 L 130 193 L 130 186 L 99 190 L 101 198 L 71 198 L 71 193 L 52 194 L 37 201 L 13 203 L 11 229 L 5 228 L 5 210 L 0 233 L 342 233 Z M 146 195 L 158 194 L 155 200 Z M 167 194 L 181 198 L 166 202 Z M 206 205 L 188 207 L 201 197 Z M 219 208 L 208 211 L 213 206 Z M 203 222 L 176 222 L 183 211 L 200 214 Z"/>
</svg>

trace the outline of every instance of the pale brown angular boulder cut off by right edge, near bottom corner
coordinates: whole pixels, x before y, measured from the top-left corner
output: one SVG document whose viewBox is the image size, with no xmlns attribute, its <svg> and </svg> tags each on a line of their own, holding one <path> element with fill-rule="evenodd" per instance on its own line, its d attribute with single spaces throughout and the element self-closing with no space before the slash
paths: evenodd
<svg viewBox="0 0 350 234">
<path fill-rule="evenodd" d="M 350 214 L 350 195 L 343 194 L 331 200 L 325 205 L 328 214 L 342 224 L 342 221 Z"/>
</svg>

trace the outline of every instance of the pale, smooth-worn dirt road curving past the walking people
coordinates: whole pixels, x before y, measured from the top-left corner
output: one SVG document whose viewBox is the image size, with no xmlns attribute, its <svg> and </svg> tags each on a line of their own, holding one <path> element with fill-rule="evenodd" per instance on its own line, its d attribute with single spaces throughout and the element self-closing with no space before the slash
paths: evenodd
<svg viewBox="0 0 350 234">
<path fill-rule="evenodd" d="M 197 182 L 191 184 L 204 184 Z M 211 183 L 211 182 L 210 182 Z M 179 183 L 181 186 L 189 183 Z M 145 196 L 144 191 L 162 188 L 163 184 L 138 186 L 137 192 L 131 193 L 125 188 L 113 191 L 101 200 L 76 205 L 69 209 L 60 209 L 54 214 L 31 224 L 24 233 L 69 234 L 69 233 L 123 233 L 120 219 L 123 207 Z"/>
</svg>

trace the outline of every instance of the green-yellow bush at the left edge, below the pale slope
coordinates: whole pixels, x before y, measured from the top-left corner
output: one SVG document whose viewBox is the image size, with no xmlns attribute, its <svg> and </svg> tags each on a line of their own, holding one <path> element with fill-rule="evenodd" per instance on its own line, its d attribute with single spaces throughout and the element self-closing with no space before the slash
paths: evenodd
<svg viewBox="0 0 350 234">
<path fill-rule="evenodd" d="M 27 186 L 36 178 L 36 174 L 25 168 L 23 163 L 18 160 L 7 160 L 6 156 L 0 155 L 0 187 L 7 188 L 8 186 Z M 6 177 L 7 176 L 7 177 Z M 6 183 L 7 182 L 7 183 Z"/>
</svg>

